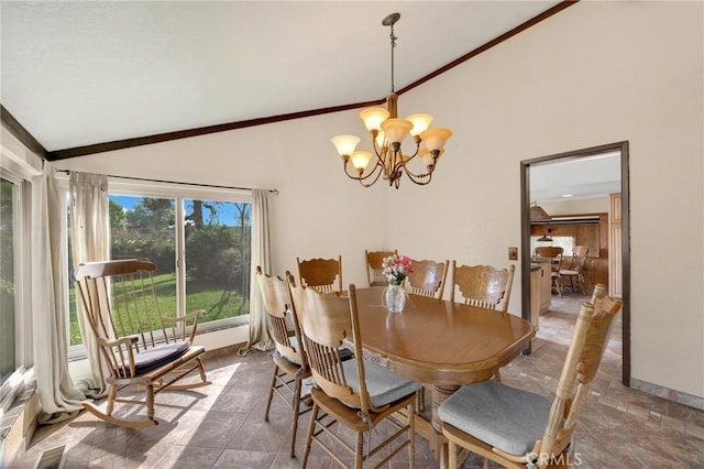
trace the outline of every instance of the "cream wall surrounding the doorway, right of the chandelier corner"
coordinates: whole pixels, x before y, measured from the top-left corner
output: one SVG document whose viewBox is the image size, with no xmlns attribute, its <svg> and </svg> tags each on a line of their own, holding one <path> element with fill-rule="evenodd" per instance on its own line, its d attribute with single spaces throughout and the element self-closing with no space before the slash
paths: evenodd
<svg viewBox="0 0 704 469">
<path fill-rule="evenodd" d="M 704 396 L 702 18 L 702 2 L 580 2 L 403 96 L 455 135 L 431 189 L 392 197 L 387 239 L 506 264 L 519 162 L 628 140 L 631 375 Z"/>
</svg>

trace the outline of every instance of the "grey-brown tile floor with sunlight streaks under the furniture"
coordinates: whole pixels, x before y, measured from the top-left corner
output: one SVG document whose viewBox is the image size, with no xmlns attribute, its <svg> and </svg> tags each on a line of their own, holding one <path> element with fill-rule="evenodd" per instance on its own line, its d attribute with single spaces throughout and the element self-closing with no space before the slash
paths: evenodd
<svg viewBox="0 0 704 469">
<path fill-rule="evenodd" d="M 504 382 L 552 396 L 582 301 L 566 295 L 554 298 L 541 316 L 532 355 L 503 369 Z M 704 468 L 704 412 L 624 388 L 620 350 L 618 320 L 576 429 L 575 462 L 598 469 Z M 61 446 L 65 446 L 66 468 L 299 467 L 300 459 L 288 457 L 288 407 L 275 399 L 270 422 L 263 421 L 270 355 L 211 353 L 207 367 L 212 385 L 157 396 L 158 426 L 118 428 L 82 412 L 73 421 L 40 427 L 30 448 L 10 467 L 35 468 L 44 451 Z M 297 432 L 299 457 L 308 417 L 301 416 Z M 405 459 L 402 456 L 387 466 L 407 467 Z M 481 463 L 472 456 L 463 467 Z M 314 448 L 308 467 L 327 469 L 331 462 Z M 416 467 L 437 467 L 420 437 Z"/>
</svg>

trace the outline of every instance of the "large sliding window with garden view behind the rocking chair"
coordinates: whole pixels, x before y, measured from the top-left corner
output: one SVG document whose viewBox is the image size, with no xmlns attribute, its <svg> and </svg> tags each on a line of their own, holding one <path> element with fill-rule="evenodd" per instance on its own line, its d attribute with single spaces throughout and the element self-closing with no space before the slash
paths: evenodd
<svg viewBox="0 0 704 469">
<path fill-rule="evenodd" d="M 205 309 L 199 330 L 244 323 L 250 312 L 251 204 L 235 194 L 167 195 L 110 186 L 111 259 L 156 264 L 162 314 Z M 144 189 L 142 189 L 144 190 Z M 153 188 L 150 190 L 154 193 Z M 73 266 L 72 266 L 73 269 Z M 70 343 L 82 342 L 72 288 Z"/>
</svg>

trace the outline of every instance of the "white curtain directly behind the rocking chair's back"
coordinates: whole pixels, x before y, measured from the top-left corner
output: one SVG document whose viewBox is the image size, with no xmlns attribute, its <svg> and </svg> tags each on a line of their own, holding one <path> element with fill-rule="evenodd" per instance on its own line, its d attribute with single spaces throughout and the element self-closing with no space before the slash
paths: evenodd
<svg viewBox="0 0 704 469">
<path fill-rule="evenodd" d="M 72 171 L 68 179 L 70 196 L 70 247 L 75 266 L 82 262 L 110 259 L 110 214 L 108 211 L 108 176 Z M 78 325 L 84 338 L 90 375 L 80 377 L 78 386 L 90 397 L 99 397 L 106 391 L 108 370 L 100 359 L 98 343 L 90 325 L 77 302 Z M 109 321 L 106 324 L 110 324 Z"/>
</svg>

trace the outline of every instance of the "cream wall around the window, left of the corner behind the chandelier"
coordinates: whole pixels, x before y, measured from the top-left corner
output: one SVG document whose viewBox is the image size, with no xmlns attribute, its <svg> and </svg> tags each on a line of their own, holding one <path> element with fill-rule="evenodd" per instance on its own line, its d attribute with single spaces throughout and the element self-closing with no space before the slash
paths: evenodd
<svg viewBox="0 0 704 469">
<path fill-rule="evenodd" d="M 342 254 L 343 282 L 366 282 L 364 249 L 384 248 L 384 187 L 362 189 L 342 174 L 330 135 L 354 131 L 356 112 L 213 133 L 57 162 L 113 175 L 277 188 L 270 196 L 275 273 L 296 257 Z M 361 123 L 360 123 L 361 127 Z M 363 129 L 363 128 L 362 128 Z M 360 129 L 360 131 L 362 130 Z"/>
</svg>

